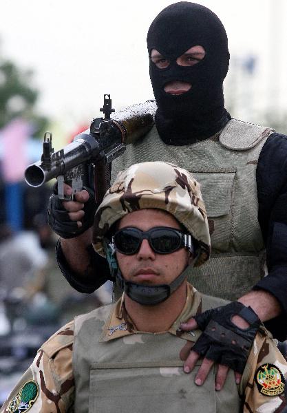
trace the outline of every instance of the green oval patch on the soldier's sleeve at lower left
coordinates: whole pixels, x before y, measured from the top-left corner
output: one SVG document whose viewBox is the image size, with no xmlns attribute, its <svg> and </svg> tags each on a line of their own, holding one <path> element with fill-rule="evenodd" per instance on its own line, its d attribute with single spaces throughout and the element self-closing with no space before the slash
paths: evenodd
<svg viewBox="0 0 287 413">
<path fill-rule="evenodd" d="M 21 388 L 21 390 L 14 396 L 10 405 L 8 406 L 8 412 L 10 413 L 23 413 L 28 412 L 32 405 L 35 403 L 39 396 L 39 385 L 34 380 L 27 381 Z"/>
</svg>

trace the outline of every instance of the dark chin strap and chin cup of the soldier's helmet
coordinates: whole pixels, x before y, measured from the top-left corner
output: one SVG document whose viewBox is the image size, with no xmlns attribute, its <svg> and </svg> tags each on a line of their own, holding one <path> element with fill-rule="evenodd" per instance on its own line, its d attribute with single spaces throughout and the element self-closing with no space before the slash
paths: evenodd
<svg viewBox="0 0 287 413">
<path fill-rule="evenodd" d="M 107 262 L 109 263 L 109 270 L 111 271 L 111 277 L 116 279 L 116 285 L 120 287 L 127 296 L 136 301 L 138 304 L 144 306 L 153 306 L 165 301 L 169 296 L 175 291 L 184 279 L 187 277 L 188 269 L 184 269 L 176 279 L 173 279 L 171 284 L 159 284 L 156 286 L 145 286 L 142 284 L 137 284 L 136 282 L 126 281 L 123 278 L 120 268 L 118 268 L 118 262 L 116 261 L 116 251 L 113 244 L 108 242 L 103 242 L 105 249 L 105 254 L 107 257 Z"/>
</svg>

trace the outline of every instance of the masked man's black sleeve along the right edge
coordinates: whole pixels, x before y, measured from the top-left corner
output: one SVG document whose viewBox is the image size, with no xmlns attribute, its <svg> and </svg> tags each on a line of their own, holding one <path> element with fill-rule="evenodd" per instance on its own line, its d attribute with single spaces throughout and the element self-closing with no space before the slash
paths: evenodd
<svg viewBox="0 0 287 413">
<path fill-rule="evenodd" d="M 266 140 L 257 165 L 258 220 L 266 244 L 268 276 L 255 290 L 277 298 L 283 313 L 265 323 L 279 339 L 287 337 L 287 136 L 272 134 Z"/>
</svg>

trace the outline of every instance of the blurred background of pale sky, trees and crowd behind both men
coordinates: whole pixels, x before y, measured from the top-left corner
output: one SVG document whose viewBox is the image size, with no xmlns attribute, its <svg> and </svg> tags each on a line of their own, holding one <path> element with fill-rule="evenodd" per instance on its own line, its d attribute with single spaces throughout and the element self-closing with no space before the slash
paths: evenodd
<svg viewBox="0 0 287 413">
<path fill-rule="evenodd" d="M 57 150 L 89 127 L 104 94 L 116 110 L 153 98 L 145 39 L 171 3 L 1 0 L 0 405 L 56 328 L 110 299 L 110 286 L 81 295 L 61 276 L 45 221 L 51 185 L 28 187 L 25 167 L 41 158 L 45 131 Z M 286 134 L 287 2 L 200 3 L 228 34 L 228 111 Z"/>
</svg>

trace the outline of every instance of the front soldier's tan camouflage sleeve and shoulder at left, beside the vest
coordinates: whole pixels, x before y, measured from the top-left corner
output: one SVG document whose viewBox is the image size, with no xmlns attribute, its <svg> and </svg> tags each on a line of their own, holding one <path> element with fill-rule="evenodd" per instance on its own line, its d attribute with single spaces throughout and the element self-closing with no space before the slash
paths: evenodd
<svg viewBox="0 0 287 413">
<path fill-rule="evenodd" d="M 0 412 L 64 413 L 74 405 L 72 349 L 74 321 L 56 332 L 43 344 L 28 370 L 12 390 Z M 25 383 L 36 383 L 39 394 L 32 406 L 21 403 Z"/>
</svg>

